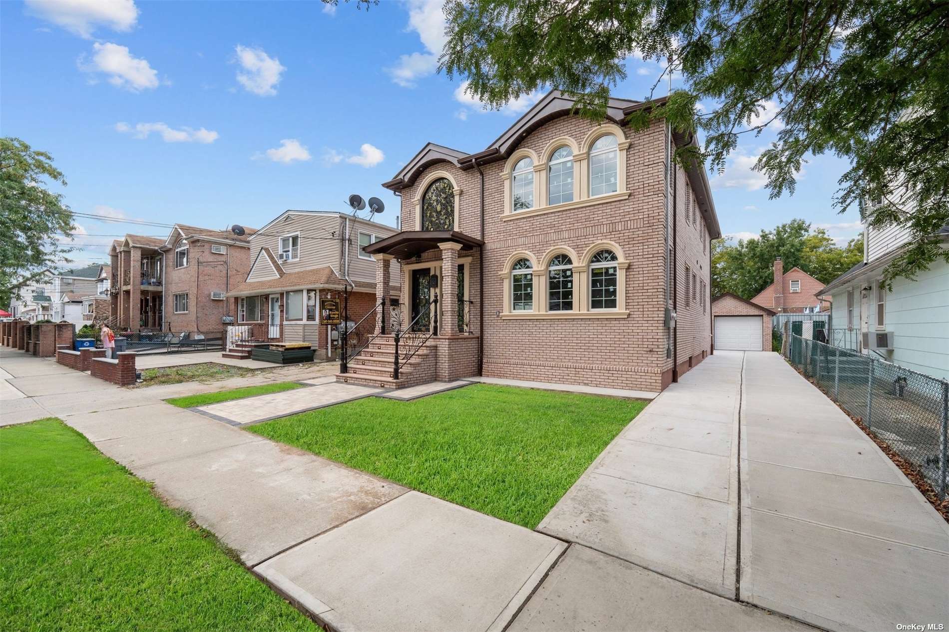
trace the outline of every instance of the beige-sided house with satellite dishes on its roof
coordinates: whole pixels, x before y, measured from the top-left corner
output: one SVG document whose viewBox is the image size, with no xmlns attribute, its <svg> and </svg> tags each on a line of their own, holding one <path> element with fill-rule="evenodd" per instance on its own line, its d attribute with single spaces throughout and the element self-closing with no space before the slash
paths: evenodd
<svg viewBox="0 0 949 632">
<path fill-rule="evenodd" d="M 236 324 L 250 325 L 254 341 L 309 343 L 318 358 L 331 357 L 334 325 L 321 323 L 320 299 L 342 301 L 348 290 L 349 320 L 361 321 L 376 305 L 376 264 L 363 249 L 395 232 L 348 214 L 278 215 L 251 235 L 251 269 L 228 292 Z"/>
</svg>

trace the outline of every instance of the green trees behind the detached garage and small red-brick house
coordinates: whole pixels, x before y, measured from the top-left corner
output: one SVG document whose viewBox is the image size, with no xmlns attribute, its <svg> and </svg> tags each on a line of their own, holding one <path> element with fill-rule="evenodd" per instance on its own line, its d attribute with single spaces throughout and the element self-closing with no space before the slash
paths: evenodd
<svg viewBox="0 0 949 632">
<path fill-rule="evenodd" d="M 712 295 L 732 292 L 751 300 L 773 283 L 777 257 L 785 272 L 800 268 L 828 284 L 863 261 L 864 238 L 855 237 L 840 248 L 824 229 L 811 232 L 808 222 L 792 219 L 737 244 L 716 239 L 712 242 Z"/>
</svg>

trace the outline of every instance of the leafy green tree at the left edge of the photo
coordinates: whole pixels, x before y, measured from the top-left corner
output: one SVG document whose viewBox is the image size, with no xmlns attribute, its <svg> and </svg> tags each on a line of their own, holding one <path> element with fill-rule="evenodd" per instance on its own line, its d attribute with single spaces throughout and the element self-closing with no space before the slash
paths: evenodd
<svg viewBox="0 0 949 632">
<path fill-rule="evenodd" d="M 72 213 L 50 182 L 65 185 L 49 154 L 0 139 L 0 305 L 72 250 L 57 238 L 72 236 Z"/>
</svg>

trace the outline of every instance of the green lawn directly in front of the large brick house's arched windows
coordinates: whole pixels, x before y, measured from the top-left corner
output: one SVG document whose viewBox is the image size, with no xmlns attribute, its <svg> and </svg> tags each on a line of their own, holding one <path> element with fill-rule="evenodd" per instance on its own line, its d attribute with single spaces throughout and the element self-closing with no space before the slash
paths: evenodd
<svg viewBox="0 0 949 632">
<path fill-rule="evenodd" d="M 251 432 L 533 529 L 645 401 L 474 384 L 365 398 Z"/>
</svg>

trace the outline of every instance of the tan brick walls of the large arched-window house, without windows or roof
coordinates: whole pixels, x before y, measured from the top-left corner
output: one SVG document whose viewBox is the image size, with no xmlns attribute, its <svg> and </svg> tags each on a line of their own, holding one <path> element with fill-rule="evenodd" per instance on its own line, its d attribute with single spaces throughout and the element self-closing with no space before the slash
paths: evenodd
<svg viewBox="0 0 949 632">
<path fill-rule="evenodd" d="M 618 137 L 619 190 L 599 199 L 579 199 L 580 188 L 588 187 L 589 147 L 602 133 Z M 510 158 L 481 166 L 483 232 L 477 169 L 462 169 L 441 160 L 400 187 L 403 230 L 418 229 L 419 199 L 438 177 L 448 177 L 456 193 L 456 231 L 484 241 L 480 251 L 457 252 L 458 261 L 468 263 L 475 333 L 480 330 L 478 314 L 483 306 L 483 375 L 660 391 L 673 379 L 670 330 L 665 325 L 672 286 L 678 311 L 675 353 L 679 374 L 711 352 L 709 230 L 702 214 L 692 217 L 697 203 L 685 201 L 690 187 L 681 169 L 675 175 L 676 279 L 675 283 L 667 281 L 673 249 L 671 241 L 666 248 L 665 235 L 668 231 L 671 240 L 673 226 L 666 218 L 666 142 L 661 122 L 640 133 L 610 121 L 596 125 L 576 116 L 544 122 L 520 139 Z M 574 201 L 547 207 L 549 156 L 563 145 L 574 152 Z M 539 181 L 534 191 L 540 199 L 534 200 L 533 209 L 512 214 L 508 201 L 511 168 L 525 156 L 533 160 L 534 178 Z M 615 309 L 594 310 L 590 302 L 590 258 L 600 250 L 612 251 L 618 259 L 620 296 Z M 567 254 L 572 263 L 573 310 L 569 312 L 547 309 L 548 266 L 559 253 Z M 483 279 L 478 274 L 481 256 Z M 514 312 L 511 307 L 510 268 L 521 257 L 529 259 L 533 267 L 530 313 Z M 402 304 L 406 308 L 411 300 L 412 270 L 437 266 L 441 258 L 441 251 L 429 251 L 419 259 L 401 262 L 405 279 Z M 451 279 L 450 274 L 441 276 L 443 282 Z M 668 294 L 667 284 L 671 286 Z M 443 362 L 440 349 L 438 362 Z"/>
</svg>

